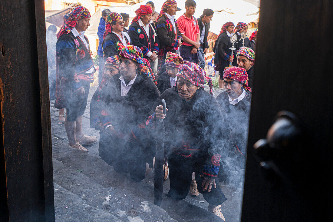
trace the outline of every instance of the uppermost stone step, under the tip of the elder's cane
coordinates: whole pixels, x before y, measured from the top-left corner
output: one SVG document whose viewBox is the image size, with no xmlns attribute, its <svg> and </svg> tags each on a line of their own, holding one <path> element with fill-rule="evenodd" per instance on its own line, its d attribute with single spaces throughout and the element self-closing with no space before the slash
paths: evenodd
<svg viewBox="0 0 333 222">
<path fill-rule="evenodd" d="M 91 152 L 87 154 L 73 149 L 65 143 L 61 145 L 61 140 L 58 140 L 57 143 L 57 147 L 53 146 L 53 157 L 61 161 L 65 166 L 74 170 L 82 170 L 82 174 L 91 178 L 104 188 L 122 188 L 126 190 L 127 193 L 144 198 L 149 202 L 154 202 L 154 171 L 146 176 L 143 181 L 134 182 L 129 178 L 129 175 L 117 173 L 112 166 L 105 163 L 99 157 L 91 155 Z M 59 177 L 61 177 L 61 174 Z M 166 181 L 164 194 L 167 193 L 169 188 L 169 183 Z M 198 203 L 199 201 L 204 202 Z M 196 206 L 190 202 L 195 202 Z M 200 207 L 198 207 L 199 205 Z M 178 221 L 222 221 L 219 217 L 206 210 L 208 203 L 203 199 L 202 194 L 195 198 L 188 196 L 185 200 L 181 201 L 173 201 L 168 197 L 164 197 L 161 207 L 170 217 Z"/>
</svg>

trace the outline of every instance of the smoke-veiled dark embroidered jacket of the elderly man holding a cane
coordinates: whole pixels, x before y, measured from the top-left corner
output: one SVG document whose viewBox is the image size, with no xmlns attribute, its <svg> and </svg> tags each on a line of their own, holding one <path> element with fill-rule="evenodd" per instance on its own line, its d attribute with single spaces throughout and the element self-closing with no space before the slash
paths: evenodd
<svg viewBox="0 0 333 222">
<path fill-rule="evenodd" d="M 227 122 L 216 99 L 203 89 L 198 89 L 188 102 L 178 95 L 177 87 L 166 89 L 155 101 L 146 125 L 156 128 L 155 109 L 166 101 L 168 109 L 164 125 L 168 137 L 164 141 L 165 154 L 176 153 L 185 158 L 203 157 L 198 165 L 208 177 L 219 171 L 221 147 L 228 144 L 225 128 Z M 222 157 L 223 158 L 223 157 Z"/>
</svg>

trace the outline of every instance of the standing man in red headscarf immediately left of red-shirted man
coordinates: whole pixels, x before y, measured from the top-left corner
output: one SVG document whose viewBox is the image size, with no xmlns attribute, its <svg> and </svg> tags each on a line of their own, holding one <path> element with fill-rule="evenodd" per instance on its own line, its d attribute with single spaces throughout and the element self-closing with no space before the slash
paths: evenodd
<svg viewBox="0 0 333 222">
<path fill-rule="evenodd" d="M 166 60 L 166 53 L 176 53 L 176 50 L 182 45 L 183 42 L 177 21 L 174 17 L 176 11 L 180 11 L 180 8 L 177 7 L 176 1 L 165 1 L 162 5 L 162 10 L 156 22 L 157 34 L 159 35 L 160 39 L 160 51 L 158 55 L 158 70 L 160 71 L 160 74 L 166 71 L 164 65 Z"/>
</svg>

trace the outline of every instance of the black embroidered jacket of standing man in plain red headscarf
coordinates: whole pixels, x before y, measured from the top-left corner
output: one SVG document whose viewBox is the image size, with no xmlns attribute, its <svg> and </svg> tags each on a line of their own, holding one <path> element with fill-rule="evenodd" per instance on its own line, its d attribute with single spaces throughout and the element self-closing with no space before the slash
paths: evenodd
<svg viewBox="0 0 333 222">
<path fill-rule="evenodd" d="M 132 41 L 131 44 L 141 48 L 144 56 L 147 56 L 149 51 L 156 52 L 156 54 L 159 53 L 160 40 L 154 23 L 149 24 L 149 36 L 144 28 L 139 25 L 138 21 L 132 23 L 128 30 L 128 34 Z"/>
</svg>

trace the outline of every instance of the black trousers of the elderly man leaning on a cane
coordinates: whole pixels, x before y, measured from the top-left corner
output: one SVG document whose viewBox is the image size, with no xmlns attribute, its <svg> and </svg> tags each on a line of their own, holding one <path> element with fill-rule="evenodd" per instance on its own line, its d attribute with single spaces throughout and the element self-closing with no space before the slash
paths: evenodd
<svg viewBox="0 0 333 222">
<path fill-rule="evenodd" d="M 208 189 L 203 191 L 201 184 L 204 177 L 200 177 L 200 175 L 202 174 L 204 163 L 205 159 L 202 157 L 197 158 L 192 156 L 186 158 L 172 152 L 168 156 L 170 190 L 166 196 L 174 200 L 184 199 L 189 192 L 192 173 L 194 172 L 198 191 L 202 193 L 203 198 L 208 203 L 217 206 L 226 201 L 219 186 L 218 177 L 215 178 L 216 188 L 213 187 L 210 192 L 208 192 Z"/>
</svg>

